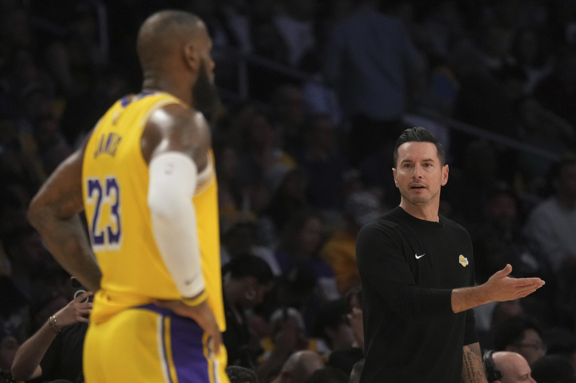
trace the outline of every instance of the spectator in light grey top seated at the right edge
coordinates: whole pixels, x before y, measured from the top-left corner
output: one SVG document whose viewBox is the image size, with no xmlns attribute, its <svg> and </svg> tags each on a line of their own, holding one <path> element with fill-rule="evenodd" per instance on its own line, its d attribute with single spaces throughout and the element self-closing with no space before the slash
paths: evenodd
<svg viewBox="0 0 576 383">
<path fill-rule="evenodd" d="M 532 211 L 524 234 L 558 271 L 576 258 L 576 158 L 552 166 L 549 183 L 554 195 Z"/>
</svg>

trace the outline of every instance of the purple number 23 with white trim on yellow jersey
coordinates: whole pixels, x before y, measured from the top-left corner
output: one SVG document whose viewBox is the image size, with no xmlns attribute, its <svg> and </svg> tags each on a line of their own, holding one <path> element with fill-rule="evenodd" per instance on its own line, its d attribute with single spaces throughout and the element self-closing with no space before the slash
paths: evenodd
<svg viewBox="0 0 576 383">
<path fill-rule="evenodd" d="M 117 251 L 122 246 L 120 185 L 114 175 L 85 179 L 86 218 L 94 251 Z"/>
</svg>

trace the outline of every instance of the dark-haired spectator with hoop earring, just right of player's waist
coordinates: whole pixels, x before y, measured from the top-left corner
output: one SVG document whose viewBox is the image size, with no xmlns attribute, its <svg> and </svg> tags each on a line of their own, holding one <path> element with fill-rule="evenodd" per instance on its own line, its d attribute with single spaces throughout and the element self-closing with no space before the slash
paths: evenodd
<svg viewBox="0 0 576 383">
<path fill-rule="evenodd" d="M 228 360 L 233 365 L 253 366 L 259 344 L 251 342 L 244 310 L 262 304 L 272 289 L 274 275 L 267 263 L 254 255 L 238 255 L 223 267 L 222 275 L 226 315 L 222 338 Z"/>
</svg>

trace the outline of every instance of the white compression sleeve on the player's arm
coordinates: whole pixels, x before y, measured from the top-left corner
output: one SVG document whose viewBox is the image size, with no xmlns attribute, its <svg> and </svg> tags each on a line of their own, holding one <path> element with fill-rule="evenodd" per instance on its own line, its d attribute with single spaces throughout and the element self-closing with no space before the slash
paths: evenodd
<svg viewBox="0 0 576 383">
<path fill-rule="evenodd" d="M 180 152 L 166 152 L 150 161 L 148 207 L 152 231 L 166 269 L 181 296 L 204 290 L 196 213 L 192 197 L 198 168 Z"/>
</svg>

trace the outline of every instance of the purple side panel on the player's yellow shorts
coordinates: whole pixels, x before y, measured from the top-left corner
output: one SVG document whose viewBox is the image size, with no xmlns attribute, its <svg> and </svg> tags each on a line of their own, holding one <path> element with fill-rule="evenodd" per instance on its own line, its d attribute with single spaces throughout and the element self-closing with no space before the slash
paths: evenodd
<svg viewBox="0 0 576 383">
<path fill-rule="evenodd" d="M 208 361 L 204 357 L 202 337 L 204 331 L 192 319 L 176 315 L 154 305 L 138 308 L 170 317 L 170 343 L 172 360 L 176 367 L 178 383 L 209 383 Z"/>
</svg>

